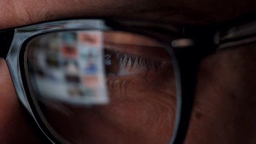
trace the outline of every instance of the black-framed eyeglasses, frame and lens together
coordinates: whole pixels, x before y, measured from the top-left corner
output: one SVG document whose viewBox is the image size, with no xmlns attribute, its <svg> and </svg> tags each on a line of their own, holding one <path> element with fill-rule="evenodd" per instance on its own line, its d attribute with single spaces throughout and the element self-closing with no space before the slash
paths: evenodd
<svg viewBox="0 0 256 144">
<path fill-rule="evenodd" d="M 254 42 L 255 33 L 255 22 L 219 28 L 71 19 L 1 31 L 0 56 L 52 143 L 181 144 L 200 61 Z"/>
</svg>

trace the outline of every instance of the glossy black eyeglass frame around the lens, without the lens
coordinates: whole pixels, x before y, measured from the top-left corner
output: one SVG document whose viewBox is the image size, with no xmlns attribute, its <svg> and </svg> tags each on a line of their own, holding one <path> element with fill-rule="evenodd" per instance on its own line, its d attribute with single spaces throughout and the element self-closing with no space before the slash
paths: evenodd
<svg viewBox="0 0 256 144">
<path fill-rule="evenodd" d="M 215 51 L 256 41 L 255 21 L 246 21 L 245 25 L 239 22 L 235 27 L 229 28 L 229 24 L 224 24 L 222 27 L 219 25 L 198 27 L 123 19 L 69 19 L 3 29 L 0 31 L 0 43 L 2 44 L 0 57 L 4 58 L 8 64 L 17 96 L 35 120 L 44 137 L 55 144 L 60 141 L 48 130 L 40 118 L 33 96 L 29 92 L 24 67 L 25 47 L 33 37 L 48 32 L 86 29 L 135 32 L 153 37 L 166 44 L 166 50 L 176 58 L 173 64 L 176 87 L 178 87 L 177 95 L 179 95 L 177 96 L 175 129 L 170 144 L 181 144 L 186 136 L 200 61 Z"/>
</svg>

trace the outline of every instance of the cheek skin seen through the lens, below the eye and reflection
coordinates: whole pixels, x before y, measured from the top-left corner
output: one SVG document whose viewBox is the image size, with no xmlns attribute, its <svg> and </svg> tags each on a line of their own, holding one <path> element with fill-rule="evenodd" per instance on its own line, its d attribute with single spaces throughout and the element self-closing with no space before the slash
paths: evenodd
<svg viewBox="0 0 256 144">
<path fill-rule="evenodd" d="M 170 86 L 170 80 L 170 75 L 160 73 L 150 76 L 147 85 L 138 80 L 127 85 L 126 93 L 111 93 L 106 106 L 62 105 L 61 109 L 68 109 L 68 115 L 48 107 L 48 121 L 62 136 L 82 142 L 167 143 L 176 111 L 175 86 Z"/>
</svg>

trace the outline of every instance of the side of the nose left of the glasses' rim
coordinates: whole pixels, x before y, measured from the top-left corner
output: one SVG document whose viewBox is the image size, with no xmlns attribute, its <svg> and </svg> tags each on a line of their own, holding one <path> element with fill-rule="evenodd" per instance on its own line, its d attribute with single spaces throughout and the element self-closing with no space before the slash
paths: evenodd
<svg viewBox="0 0 256 144">
<path fill-rule="evenodd" d="M 28 125 L 4 59 L 0 58 L 0 141 L 3 144 L 40 144 Z"/>
</svg>

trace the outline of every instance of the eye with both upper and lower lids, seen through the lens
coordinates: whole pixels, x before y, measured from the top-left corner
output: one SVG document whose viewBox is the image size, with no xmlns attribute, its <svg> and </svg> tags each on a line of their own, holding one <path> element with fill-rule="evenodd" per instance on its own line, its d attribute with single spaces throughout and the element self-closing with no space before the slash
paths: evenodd
<svg viewBox="0 0 256 144">
<path fill-rule="evenodd" d="M 132 37 L 127 33 L 108 32 L 105 35 L 110 34 L 115 38 L 107 38 L 104 43 L 105 75 L 110 97 L 150 88 L 152 91 L 152 88 L 159 87 L 160 81 L 174 79 L 171 56 L 163 45 L 153 43 L 147 37 Z M 120 37 L 128 37 L 128 40 L 120 40 Z"/>
</svg>

